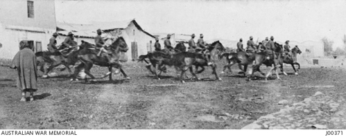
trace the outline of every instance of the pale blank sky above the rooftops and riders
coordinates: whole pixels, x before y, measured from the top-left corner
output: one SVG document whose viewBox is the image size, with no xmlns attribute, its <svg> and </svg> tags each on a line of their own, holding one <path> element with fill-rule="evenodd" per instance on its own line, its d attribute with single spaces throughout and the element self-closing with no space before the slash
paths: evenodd
<svg viewBox="0 0 346 137">
<path fill-rule="evenodd" d="M 327 37 L 334 49 L 343 45 L 345 13 L 343 0 L 55 1 L 57 21 L 74 24 L 136 19 L 148 33 L 202 33 L 204 39 L 236 41 L 274 36 L 279 42 L 320 42 Z"/>
</svg>

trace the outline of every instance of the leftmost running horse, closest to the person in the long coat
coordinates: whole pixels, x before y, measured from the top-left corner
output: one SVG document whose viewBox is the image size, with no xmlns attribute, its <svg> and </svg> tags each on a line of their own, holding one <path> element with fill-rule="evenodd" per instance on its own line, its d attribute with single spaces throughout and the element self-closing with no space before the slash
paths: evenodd
<svg viewBox="0 0 346 137">
<path fill-rule="evenodd" d="M 48 77 L 47 74 L 52 71 L 55 67 L 59 66 L 60 64 L 64 65 L 65 68 L 69 71 L 69 76 L 72 74 L 71 69 L 69 68 L 70 65 L 75 65 L 76 62 L 78 62 L 78 51 L 82 50 L 83 47 L 79 46 L 79 49 L 76 50 L 78 46 L 73 46 L 73 48 L 69 48 L 69 55 L 63 55 L 60 53 L 60 51 L 57 51 L 55 53 L 51 53 L 49 51 L 40 51 L 35 53 L 37 57 L 37 63 L 40 66 L 40 71 L 44 72 L 44 75 L 42 77 Z M 44 64 L 49 64 L 49 68 L 44 68 Z M 60 71 L 64 71 L 64 69 L 61 69 Z"/>
</svg>

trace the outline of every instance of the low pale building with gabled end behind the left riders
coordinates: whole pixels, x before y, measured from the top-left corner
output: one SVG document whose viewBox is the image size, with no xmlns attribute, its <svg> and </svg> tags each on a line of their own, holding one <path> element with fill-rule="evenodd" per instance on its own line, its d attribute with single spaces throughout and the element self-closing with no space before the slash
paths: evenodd
<svg viewBox="0 0 346 137">
<path fill-rule="evenodd" d="M 70 31 L 75 35 L 75 41 L 78 44 L 82 40 L 94 44 L 98 28 L 105 33 L 103 37 L 123 37 L 129 47 L 129 51 L 126 53 L 129 60 L 137 60 L 139 55 L 147 54 L 150 51 L 150 45 L 155 43 L 155 37 L 141 28 L 135 19 L 112 22 L 93 21 L 92 24 L 58 23 L 57 28 L 57 32 L 60 34 L 58 44 L 63 42 Z"/>
</svg>

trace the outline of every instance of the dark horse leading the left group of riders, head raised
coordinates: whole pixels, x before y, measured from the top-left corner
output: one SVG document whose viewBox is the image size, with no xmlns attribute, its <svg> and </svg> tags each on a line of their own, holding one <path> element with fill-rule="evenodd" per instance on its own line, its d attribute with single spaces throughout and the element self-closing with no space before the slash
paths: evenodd
<svg viewBox="0 0 346 137">
<path fill-rule="evenodd" d="M 83 42 L 83 46 L 93 46 L 93 44 L 89 44 L 88 42 Z M 123 37 L 118 37 L 115 42 L 113 42 L 110 46 L 106 47 L 107 51 L 110 55 L 110 60 L 107 60 L 107 57 L 105 57 L 106 53 L 102 53 L 101 56 L 97 56 L 98 51 L 92 48 L 85 48 L 81 51 L 78 51 L 78 60 L 80 60 L 80 64 L 76 66 L 75 72 L 73 74 L 73 79 L 71 81 L 76 80 L 76 76 L 80 72 L 81 69 L 85 69 L 85 73 L 89 75 L 89 77 L 92 77 L 94 79 L 94 75 L 90 73 L 90 69 L 92 69 L 92 66 L 94 64 L 98 66 L 105 66 L 108 68 L 110 72 L 112 72 L 112 67 L 115 67 L 123 73 L 123 76 L 130 80 L 130 77 L 126 75 L 126 73 L 123 71 L 121 64 L 119 64 L 119 57 L 121 52 L 127 52 L 128 51 L 128 45 L 125 42 L 125 39 Z M 109 73 L 110 81 L 112 81 L 112 73 Z M 105 75 L 107 76 L 107 75 Z M 105 77 L 104 76 L 104 77 Z M 85 77 L 85 82 L 87 82 L 87 77 Z"/>
</svg>

